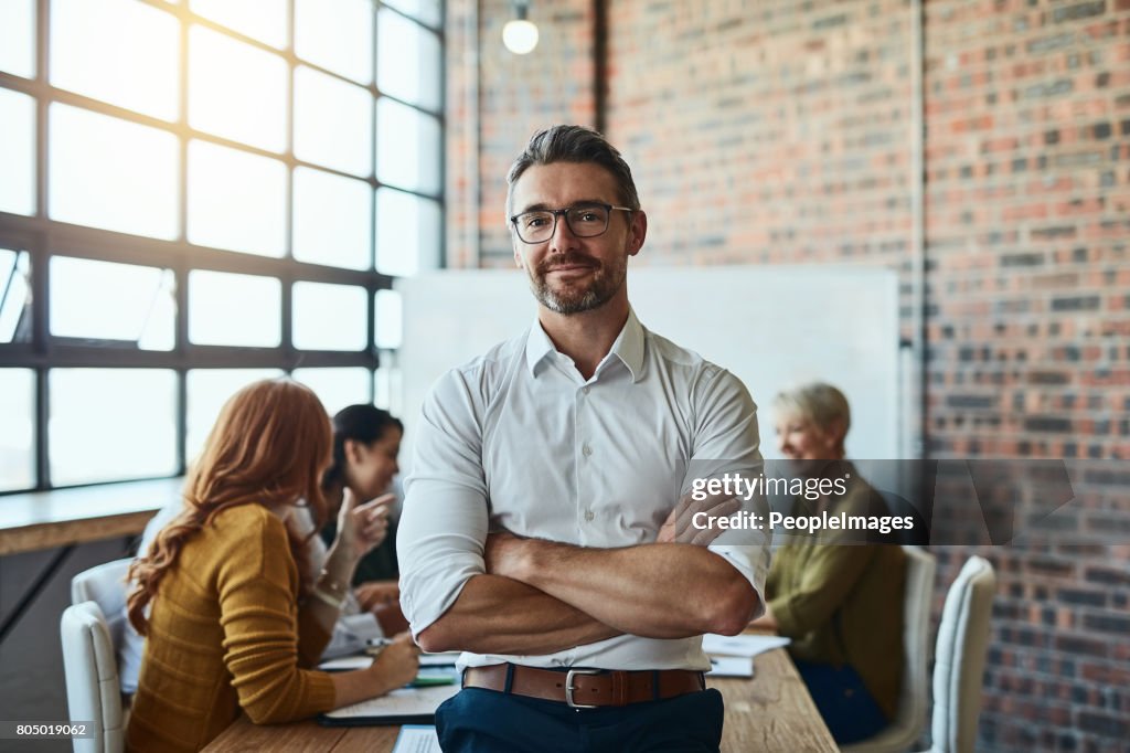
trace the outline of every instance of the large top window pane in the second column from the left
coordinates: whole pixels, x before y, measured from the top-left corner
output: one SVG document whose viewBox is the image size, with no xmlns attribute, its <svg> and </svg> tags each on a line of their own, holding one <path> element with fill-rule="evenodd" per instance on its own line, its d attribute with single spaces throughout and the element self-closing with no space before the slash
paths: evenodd
<svg viewBox="0 0 1130 753">
<path fill-rule="evenodd" d="M 176 17 L 131 0 L 52 0 L 51 83 L 176 120 Z"/>
</svg>

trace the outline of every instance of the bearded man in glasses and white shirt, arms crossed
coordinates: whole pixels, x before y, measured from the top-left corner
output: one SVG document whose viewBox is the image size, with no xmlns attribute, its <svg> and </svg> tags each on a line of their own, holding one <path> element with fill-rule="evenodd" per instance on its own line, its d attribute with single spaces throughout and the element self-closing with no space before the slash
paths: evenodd
<svg viewBox="0 0 1130 753">
<path fill-rule="evenodd" d="M 627 260 L 647 217 L 599 133 L 558 126 L 507 176 L 538 317 L 450 371 L 423 408 L 398 535 L 401 601 L 427 651 L 462 650 L 445 751 L 716 751 L 706 632 L 763 609 L 764 539 L 686 525 L 695 469 L 762 468 L 741 382 L 647 331 Z M 678 302 L 672 302 L 678 304 Z"/>
</svg>

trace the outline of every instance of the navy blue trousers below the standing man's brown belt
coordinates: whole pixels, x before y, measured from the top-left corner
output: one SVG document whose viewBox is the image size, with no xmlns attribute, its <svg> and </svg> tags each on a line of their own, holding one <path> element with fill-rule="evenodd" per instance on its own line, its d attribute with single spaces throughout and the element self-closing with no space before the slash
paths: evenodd
<svg viewBox="0 0 1130 753">
<path fill-rule="evenodd" d="M 446 753 L 716 753 L 722 718 L 722 694 L 713 689 L 619 708 L 571 709 L 464 687 L 435 712 L 435 726 Z"/>
</svg>

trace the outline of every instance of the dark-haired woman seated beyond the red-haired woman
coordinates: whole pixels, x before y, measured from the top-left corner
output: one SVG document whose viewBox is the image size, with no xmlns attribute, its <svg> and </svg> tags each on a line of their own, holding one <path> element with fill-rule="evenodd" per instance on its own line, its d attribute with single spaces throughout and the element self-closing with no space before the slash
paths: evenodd
<svg viewBox="0 0 1130 753">
<path fill-rule="evenodd" d="M 391 507 L 392 479 L 400 470 L 397 457 L 405 426 L 388 410 L 373 405 L 350 405 L 333 416 L 333 460 L 322 478 L 322 492 L 331 508 L 350 493 L 362 501 Z M 327 544 L 337 535 L 331 521 L 322 529 Z M 408 629 L 400 612 L 397 578 L 397 527 L 389 519 L 384 540 L 362 557 L 354 571 L 355 595 L 360 607 L 372 612 L 385 634 Z"/>
</svg>

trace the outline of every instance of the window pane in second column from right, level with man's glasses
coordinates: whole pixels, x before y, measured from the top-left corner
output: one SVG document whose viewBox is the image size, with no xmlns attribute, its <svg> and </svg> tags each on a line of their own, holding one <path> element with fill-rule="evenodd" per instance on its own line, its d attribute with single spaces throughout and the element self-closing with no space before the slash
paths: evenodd
<svg viewBox="0 0 1130 753">
<path fill-rule="evenodd" d="M 320 170 L 294 171 L 294 258 L 315 265 L 373 265 L 373 189 Z"/>
</svg>

